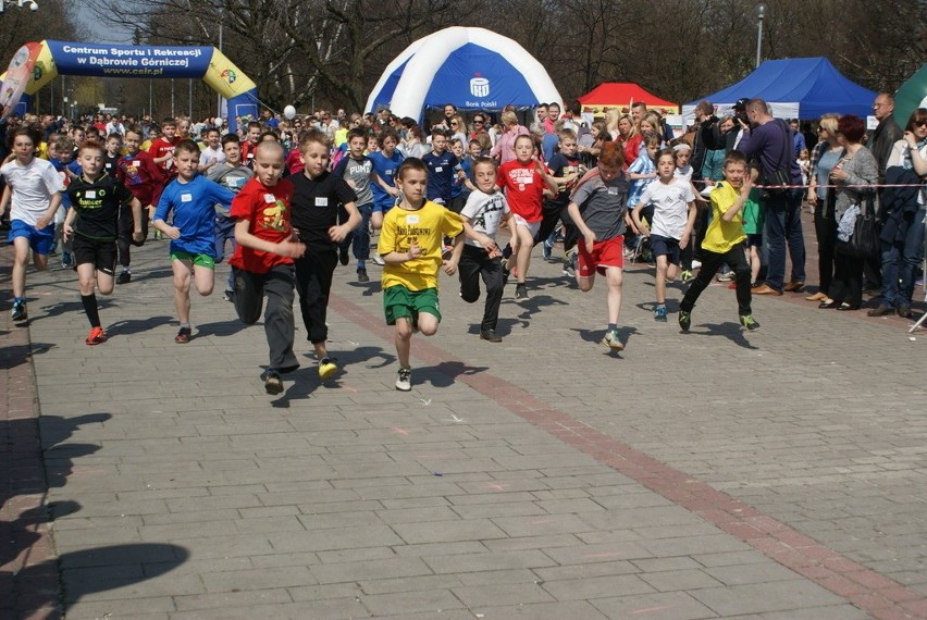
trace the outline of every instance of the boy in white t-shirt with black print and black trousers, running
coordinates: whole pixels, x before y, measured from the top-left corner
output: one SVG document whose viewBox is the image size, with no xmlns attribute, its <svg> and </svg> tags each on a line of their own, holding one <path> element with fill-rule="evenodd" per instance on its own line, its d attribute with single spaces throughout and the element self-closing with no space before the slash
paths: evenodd
<svg viewBox="0 0 927 620">
<path fill-rule="evenodd" d="M 474 144 L 474 142 L 471 142 Z M 475 142 L 478 144 L 478 142 Z M 496 186 L 496 160 L 481 157 L 473 163 L 473 179 L 477 188 L 467 198 L 460 212 L 467 238 L 455 247 L 459 258 L 460 297 L 467 303 L 480 298 L 480 277 L 486 286 L 486 303 L 480 323 L 480 338 L 500 343 L 496 333 L 502 302 L 503 282 L 502 251 L 495 241 L 499 224 L 511 215 L 505 197 Z"/>
</svg>

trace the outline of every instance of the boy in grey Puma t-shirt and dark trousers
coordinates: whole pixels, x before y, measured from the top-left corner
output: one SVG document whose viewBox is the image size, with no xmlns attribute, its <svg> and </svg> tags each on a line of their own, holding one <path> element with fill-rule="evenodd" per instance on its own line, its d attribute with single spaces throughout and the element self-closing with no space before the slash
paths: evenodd
<svg viewBox="0 0 927 620">
<path fill-rule="evenodd" d="M 357 281 L 370 282 L 367 274 L 367 260 L 370 258 L 370 218 L 373 213 L 373 161 L 366 154 L 367 131 L 355 127 L 348 132 L 348 154 L 332 171 L 341 176 L 357 194 L 357 210 L 360 212 L 360 226 L 342 241 L 341 251 L 347 253 L 350 244 L 354 258 L 357 259 Z M 347 261 L 343 261 L 347 264 Z"/>
</svg>

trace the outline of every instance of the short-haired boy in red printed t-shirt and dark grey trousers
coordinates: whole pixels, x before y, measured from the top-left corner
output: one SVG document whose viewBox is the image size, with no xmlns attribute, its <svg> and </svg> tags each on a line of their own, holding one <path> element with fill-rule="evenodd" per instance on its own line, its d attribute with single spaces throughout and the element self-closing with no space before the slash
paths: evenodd
<svg viewBox="0 0 927 620">
<path fill-rule="evenodd" d="M 235 275 L 235 311 L 244 323 L 258 322 L 268 298 L 264 333 L 270 363 L 261 380 L 268 394 L 280 394 L 280 375 L 299 368 L 293 352 L 293 262 L 306 246 L 293 240 L 293 184 L 281 179 L 283 147 L 274 141 L 261 142 L 254 162 L 255 177 L 232 200 L 228 213 L 235 220 L 237 244 L 228 263 Z"/>
</svg>

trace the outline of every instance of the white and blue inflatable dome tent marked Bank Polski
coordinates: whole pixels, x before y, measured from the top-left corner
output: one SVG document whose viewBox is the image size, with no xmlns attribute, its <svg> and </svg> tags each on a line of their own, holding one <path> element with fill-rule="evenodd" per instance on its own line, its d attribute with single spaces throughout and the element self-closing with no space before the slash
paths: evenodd
<svg viewBox="0 0 927 620">
<path fill-rule="evenodd" d="M 455 26 L 421 38 L 396 57 L 370 94 L 367 111 L 390 108 L 421 119 L 425 108 L 532 108 L 560 94 L 544 66 L 514 40 L 485 28 Z"/>
</svg>

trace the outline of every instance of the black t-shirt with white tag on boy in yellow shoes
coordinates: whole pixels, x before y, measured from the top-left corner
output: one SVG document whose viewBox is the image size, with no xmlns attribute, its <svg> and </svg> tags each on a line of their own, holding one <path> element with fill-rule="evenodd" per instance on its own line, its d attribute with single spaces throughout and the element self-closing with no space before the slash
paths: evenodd
<svg viewBox="0 0 927 620">
<path fill-rule="evenodd" d="M 338 223 L 338 204 L 357 202 L 350 185 L 334 173 L 323 172 L 309 178 L 306 171 L 289 177 L 293 183 L 293 227 L 310 250 L 329 250 L 337 244 L 329 238 L 329 228 Z"/>
</svg>

